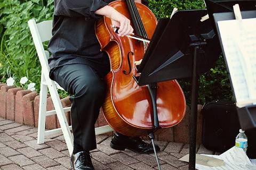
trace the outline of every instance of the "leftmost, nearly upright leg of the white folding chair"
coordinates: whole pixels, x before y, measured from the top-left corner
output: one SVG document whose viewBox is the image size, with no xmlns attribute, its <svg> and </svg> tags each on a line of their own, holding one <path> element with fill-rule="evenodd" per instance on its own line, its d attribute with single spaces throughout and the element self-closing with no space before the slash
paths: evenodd
<svg viewBox="0 0 256 170">
<path fill-rule="evenodd" d="M 41 90 L 39 101 L 39 113 L 38 113 L 38 132 L 37 132 L 37 144 L 44 143 L 45 138 L 45 119 L 46 119 L 46 100 L 47 100 L 47 86 L 42 82 L 44 81 L 43 74 L 41 75 Z"/>
</svg>

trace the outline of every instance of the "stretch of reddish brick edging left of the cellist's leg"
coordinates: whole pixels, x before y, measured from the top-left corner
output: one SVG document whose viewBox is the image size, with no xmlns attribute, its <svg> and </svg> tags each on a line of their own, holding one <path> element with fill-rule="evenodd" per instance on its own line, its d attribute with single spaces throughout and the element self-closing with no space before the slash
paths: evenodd
<svg viewBox="0 0 256 170">
<path fill-rule="evenodd" d="M 12 120 L 20 124 L 38 126 L 39 94 L 30 90 L 23 90 L 16 86 L 7 86 L 0 83 L 0 117 Z M 69 97 L 61 99 L 63 107 L 69 107 Z M 47 110 L 53 109 L 51 97 L 47 98 L 50 104 Z M 70 124 L 70 113 L 65 113 Z M 60 128 L 56 115 L 47 116 L 46 128 Z"/>
</svg>

